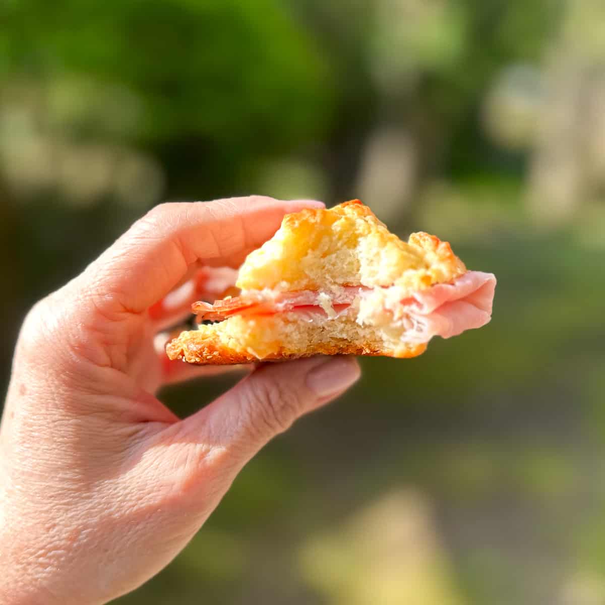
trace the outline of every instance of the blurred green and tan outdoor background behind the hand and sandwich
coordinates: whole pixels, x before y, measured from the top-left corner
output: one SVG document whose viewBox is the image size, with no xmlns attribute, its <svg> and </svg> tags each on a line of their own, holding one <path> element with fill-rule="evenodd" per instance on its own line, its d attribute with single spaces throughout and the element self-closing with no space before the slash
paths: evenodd
<svg viewBox="0 0 605 605">
<path fill-rule="evenodd" d="M 362 360 L 117 603 L 605 603 L 603 3 L 1 2 L 0 387 L 28 307 L 147 209 L 249 193 L 436 233 L 494 318 Z"/>
</svg>

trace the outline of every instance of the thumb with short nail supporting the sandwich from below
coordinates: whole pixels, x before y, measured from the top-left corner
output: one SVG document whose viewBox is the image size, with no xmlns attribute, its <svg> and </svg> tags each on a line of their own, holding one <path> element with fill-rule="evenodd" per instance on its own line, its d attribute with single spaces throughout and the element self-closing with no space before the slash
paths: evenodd
<svg viewBox="0 0 605 605">
<path fill-rule="evenodd" d="M 235 454 L 243 465 L 298 417 L 338 397 L 359 375 L 353 357 L 263 364 L 186 419 L 185 430 L 192 439 Z"/>
</svg>

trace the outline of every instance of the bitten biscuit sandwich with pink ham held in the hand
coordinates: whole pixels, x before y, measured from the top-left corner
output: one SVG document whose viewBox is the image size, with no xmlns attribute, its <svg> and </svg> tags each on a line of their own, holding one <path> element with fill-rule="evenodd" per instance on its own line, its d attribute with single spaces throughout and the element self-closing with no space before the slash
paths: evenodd
<svg viewBox="0 0 605 605">
<path fill-rule="evenodd" d="M 231 295 L 195 302 L 198 329 L 166 353 L 191 364 L 415 357 L 434 336 L 487 324 L 494 289 L 494 275 L 468 271 L 447 242 L 402 241 L 359 200 L 305 209 L 247 256 Z"/>
</svg>

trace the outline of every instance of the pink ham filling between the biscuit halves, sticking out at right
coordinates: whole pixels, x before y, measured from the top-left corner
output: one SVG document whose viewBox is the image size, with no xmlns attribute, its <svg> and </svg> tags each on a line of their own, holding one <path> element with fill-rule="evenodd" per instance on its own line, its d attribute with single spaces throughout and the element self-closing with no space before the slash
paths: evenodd
<svg viewBox="0 0 605 605">
<path fill-rule="evenodd" d="M 491 273 L 468 271 L 452 284 L 437 284 L 428 290 L 416 292 L 401 301 L 400 309 L 407 313 L 409 328 L 402 335 L 404 341 L 428 342 L 433 336 L 451 338 L 465 330 L 480 328 L 491 319 L 495 291 L 495 276 Z M 336 312 L 342 312 L 364 287 L 344 287 L 332 297 Z M 296 311 L 301 315 L 313 313 L 325 316 L 319 306 L 318 293 L 310 290 L 284 292 L 275 296 L 247 293 L 216 301 L 196 302 L 193 305 L 198 320 L 221 321 L 232 315 L 272 315 Z"/>
</svg>

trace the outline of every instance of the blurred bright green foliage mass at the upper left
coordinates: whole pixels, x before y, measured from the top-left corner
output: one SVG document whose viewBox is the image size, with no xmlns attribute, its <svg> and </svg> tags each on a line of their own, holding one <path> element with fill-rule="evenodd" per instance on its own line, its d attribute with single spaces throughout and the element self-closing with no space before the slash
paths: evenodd
<svg viewBox="0 0 605 605">
<path fill-rule="evenodd" d="M 140 140 L 249 147 L 261 136 L 280 148 L 330 115 L 325 57 L 276 0 L 24 0 L 4 10 L 5 77 L 125 87 L 142 105 Z M 87 90 L 64 94 L 94 110 Z"/>
</svg>

